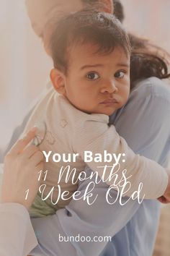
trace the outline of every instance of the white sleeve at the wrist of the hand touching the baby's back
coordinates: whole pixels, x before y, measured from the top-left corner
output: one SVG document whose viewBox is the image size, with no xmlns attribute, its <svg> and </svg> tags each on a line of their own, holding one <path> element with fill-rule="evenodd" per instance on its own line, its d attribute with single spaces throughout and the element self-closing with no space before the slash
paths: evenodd
<svg viewBox="0 0 170 256">
<path fill-rule="evenodd" d="M 37 245 L 29 213 L 17 203 L 0 204 L 0 255 L 23 256 Z"/>
</svg>

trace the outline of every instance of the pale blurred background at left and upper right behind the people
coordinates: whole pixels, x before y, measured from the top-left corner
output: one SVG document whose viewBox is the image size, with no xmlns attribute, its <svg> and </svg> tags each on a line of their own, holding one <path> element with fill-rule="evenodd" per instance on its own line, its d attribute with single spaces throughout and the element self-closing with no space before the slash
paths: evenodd
<svg viewBox="0 0 170 256">
<path fill-rule="evenodd" d="M 45 87 L 52 67 L 35 36 L 24 0 L 0 0 L 0 150 L 30 103 Z M 169 0 L 122 0 L 124 25 L 170 52 Z"/>
</svg>

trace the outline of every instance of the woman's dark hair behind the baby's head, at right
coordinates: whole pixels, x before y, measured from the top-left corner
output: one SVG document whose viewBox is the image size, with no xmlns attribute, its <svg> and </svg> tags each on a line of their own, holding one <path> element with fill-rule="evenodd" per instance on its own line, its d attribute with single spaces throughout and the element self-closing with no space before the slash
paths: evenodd
<svg viewBox="0 0 170 256">
<path fill-rule="evenodd" d="M 99 0 L 82 0 L 93 5 Z M 121 22 L 124 20 L 124 9 L 120 0 L 112 0 L 114 4 L 114 14 Z M 158 77 L 166 79 L 170 77 L 168 65 L 170 55 L 161 47 L 158 47 L 144 38 L 129 34 L 132 46 L 130 58 L 130 86 L 133 88 L 136 80 L 148 77 Z"/>
</svg>

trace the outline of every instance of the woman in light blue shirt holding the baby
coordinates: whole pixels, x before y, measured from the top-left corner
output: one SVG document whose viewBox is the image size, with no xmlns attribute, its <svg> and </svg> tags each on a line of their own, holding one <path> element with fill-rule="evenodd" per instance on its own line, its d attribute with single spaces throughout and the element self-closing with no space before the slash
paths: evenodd
<svg viewBox="0 0 170 256">
<path fill-rule="evenodd" d="M 61 13 L 76 11 L 84 7 L 86 3 L 93 4 L 95 7 L 96 2 L 98 1 L 43 0 L 42 4 L 42 0 L 27 0 L 32 26 L 45 43 L 46 51 L 48 51 L 50 29 L 53 29 L 51 17 L 54 15 L 59 17 Z M 111 0 L 100 2 L 108 4 L 105 11 L 112 12 Z M 135 40 L 133 43 L 134 57 L 131 63 L 132 72 L 133 70 L 135 72 L 131 74 L 133 90 L 128 104 L 117 115 L 111 116 L 110 122 L 115 124 L 117 132 L 125 137 L 135 153 L 140 153 L 163 164 L 169 150 L 170 127 L 167 116 L 170 108 L 170 92 L 160 78 L 167 77 L 168 72 L 165 62 L 162 62 L 162 59 L 159 61 L 160 58 L 158 58 L 158 65 L 154 66 L 157 60 L 156 54 L 153 54 L 150 65 L 146 69 L 145 65 L 148 64 L 148 61 L 145 62 L 146 57 L 151 58 L 152 54 L 148 54 L 150 49 L 148 49 L 147 42 L 143 41 L 143 43 L 141 47 L 140 41 Z M 139 51 L 136 52 L 136 48 Z M 161 69 L 158 68 L 160 64 L 162 64 Z M 27 118 L 28 116 L 25 120 Z M 86 172 L 89 171 L 86 168 Z M 83 194 L 85 189 L 86 182 L 81 182 L 79 191 Z M 138 202 L 130 201 L 123 207 L 118 202 L 109 205 L 104 197 L 106 189 L 105 184 L 97 184 L 94 195 L 99 195 L 99 201 L 96 201 L 93 208 L 90 208 L 84 200 L 72 200 L 66 209 L 58 210 L 55 216 L 33 219 L 32 225 L 39 244 L 32 251 L 32 255 L 68 255 L 69 253 L 75 256 L 101 253 L 101 256 L 151 256 L 158 223 L 158 202 L 146 200 L 139 205 Z M 112 193 L 113 198 L 116 196 Z M 146 223 L 146 226 L 143 223 Z M 91 236 L 91 238 L 94 238 L 94 234 L 114 237 L 111 242 L 104 241 L 104 239 L 102 242 L 90 244 L 86 239 L 84 242 L 66 242 L 70 236 L 76 237 L 77 234 L 81 237 Z M 61 240 L 63 242 L 60 242 Z"/>
</svg>

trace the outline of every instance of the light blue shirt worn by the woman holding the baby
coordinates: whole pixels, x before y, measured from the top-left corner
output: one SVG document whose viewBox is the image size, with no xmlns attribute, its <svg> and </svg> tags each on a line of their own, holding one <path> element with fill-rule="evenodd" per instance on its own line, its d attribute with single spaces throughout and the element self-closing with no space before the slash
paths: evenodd
<svg viewBox="0 0 170 256">
<path fill-rule="evenodd" d="M 164 82 L 151 77 L 136 84 L 126 106 L 110 122 L 135 153 L 165 165 L 170 148 L 169 113 L 170 90 Z M 87 184 L 88 181 L 79 184 L 82 194 Z M 151 256 L 160 204 L 157 200 L 144 200 L 139 205 L 130 200 L 124 206 L 118 201 L 109 205 L 105 199 L 107 189 L 107 184 L 96 185 L 94 197 L 98 194 L 98 198 L 93 205 L 72 200 L 55 216 L 32 219 L 39 245 L 31 255 Z M 116 196 L 112 190 L 112 197 Z M 91 239 L 112 236 L 112 242 L 59 242 L 59 235 Z"/>
</svg>

